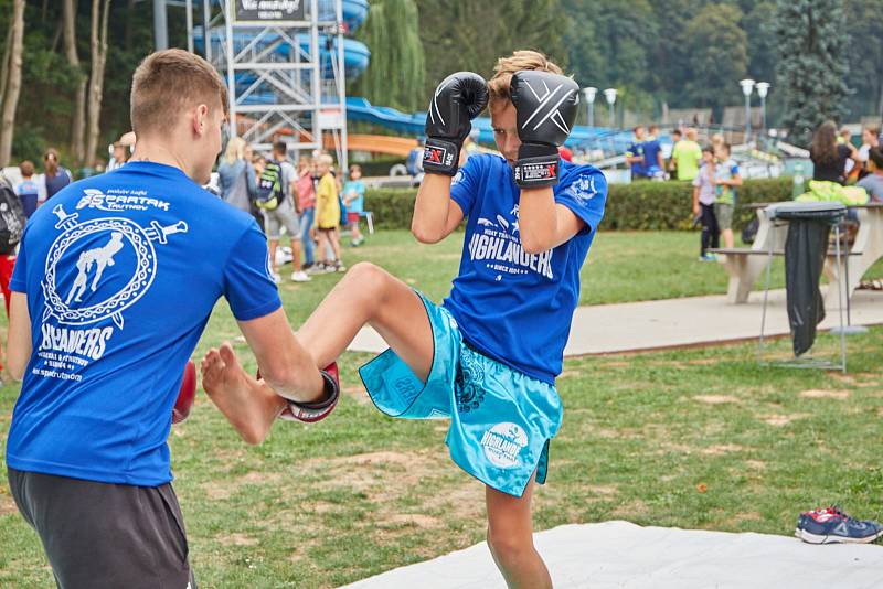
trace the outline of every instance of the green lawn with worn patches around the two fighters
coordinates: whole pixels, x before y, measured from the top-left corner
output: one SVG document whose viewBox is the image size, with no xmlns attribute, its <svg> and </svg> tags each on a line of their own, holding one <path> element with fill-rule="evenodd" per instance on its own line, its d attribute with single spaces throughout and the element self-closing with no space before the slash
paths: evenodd
<svg viewBox="0 0 883 589">
<path fill-rule="evenodd" d="M 602 235 L 583 302 L 724 292 L 723 269 L 694 261 L 696 240 Z M 372 259 L 435 300 L 446 294 L 458 238 L 421 246 L 389 232 L 370 244 L 347 250 L 348 264 Z M 284 285 L 292 321 L 338 278 Z M 222 303 L 196 354 L 236 335 Z M 828 502 L 883 518 L 883 329 L 849 346 L 849 375 L 758 368 L 754 345 L 566 361 L 565 420 L 536 495 L 538 527 L 621 518 L 787 535 L 799 511 Z M 200 587 L 334 587 L 483 539 L 483 490 L 447 458 L 446 424 L 376 411 L 355 375 L 369 357 L 341 358 L 345 395 L 330 419 L 278 424 L 260 447 L 242 443 L 203 395 L 174 428 L 175 489 Z M 17 395 L 0 389 L 0 450 Z M 54 587 L 4 482 L 0 547 L 0 587 Z"/>
</svg>

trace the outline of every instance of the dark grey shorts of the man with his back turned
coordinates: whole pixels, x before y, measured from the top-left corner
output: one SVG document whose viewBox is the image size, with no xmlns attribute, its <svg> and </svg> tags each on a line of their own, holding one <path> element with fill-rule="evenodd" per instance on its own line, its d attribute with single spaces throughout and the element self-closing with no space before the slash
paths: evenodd
<svg viewBox="0 0 883 589">
<path fill-rule="evenodd" d="M 61 589 L 195 589 L 171 484 L 134 486 L 8 469 Z"/>
</svg>

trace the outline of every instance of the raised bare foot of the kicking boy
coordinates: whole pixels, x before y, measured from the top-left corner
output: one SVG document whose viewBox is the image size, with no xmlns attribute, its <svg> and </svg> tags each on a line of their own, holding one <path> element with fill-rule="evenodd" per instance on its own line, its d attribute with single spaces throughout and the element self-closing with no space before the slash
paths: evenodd
<svg viewBox="0 0 883 589">
<path fill-rule="evenodd" d="M 202 388 L 247 443 L 260 443 L 287 406 L 264 381 L 245 373 L 233 347 L 212 349 L 200 365 Z"/>
</svg>

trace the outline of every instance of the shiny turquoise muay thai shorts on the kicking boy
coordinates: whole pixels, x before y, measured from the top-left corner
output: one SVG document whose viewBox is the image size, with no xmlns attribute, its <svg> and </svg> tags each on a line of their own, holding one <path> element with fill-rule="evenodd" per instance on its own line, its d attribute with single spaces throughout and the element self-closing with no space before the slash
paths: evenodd
<svg viewBox="0 0 883 589">
<path fill-rule="evenodd" d="M 555 387 L 469 347 L 450 312 L 417 294 L 435 344 L 429 376 L 386 350 L 359 370 L 371 400 L 391 417 L 450 419 L 450 458 L 498 491 L 521 496 L 534 471 L 544 483 L 563 413 Z"/>
</svg>

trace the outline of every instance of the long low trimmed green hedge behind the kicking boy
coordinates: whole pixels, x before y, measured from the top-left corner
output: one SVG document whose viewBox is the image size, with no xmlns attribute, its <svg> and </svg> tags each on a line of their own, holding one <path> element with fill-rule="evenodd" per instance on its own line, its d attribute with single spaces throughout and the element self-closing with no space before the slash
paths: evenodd
<svg viewBox="0 0 883 589">
<path fill-rule="evenodd" d="M 417 189 L 369 189 L 365 208 L 374 213 L 374 225 L 386 229 L 407 229 L 414 212 Z M 659 231 L 690 229 L 693 225 L 693 188 L 689 182 L 635 182 L 611 184 L 602 229 Z M 738 206 L 733 218 L 736 232 L 756 213 L 752 203 L 791 200 L 791 179 L 746 180 L 737 191 Z"/>
</svg>

